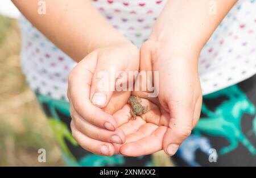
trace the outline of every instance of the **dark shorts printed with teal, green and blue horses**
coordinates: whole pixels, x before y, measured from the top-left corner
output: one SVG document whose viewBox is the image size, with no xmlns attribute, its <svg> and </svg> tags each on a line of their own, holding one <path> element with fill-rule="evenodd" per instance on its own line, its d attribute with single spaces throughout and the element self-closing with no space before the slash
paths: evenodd
<svg viewBox="0 0 256 178">
<path fill-rule="evenodd" d="M 67 165 L 150 166 L 151 155 L 137 158 L 94 155 L 72 138 L 69 103 L 37 93 Z M 176 165 L 256 165 L 256 75 L 204 96 L 201 118 L 177 154 Z M 215 152 L 216 151 L 216 152 Z M 214 158 L 214 156 L 216 158 Z M 215 162 L 216 161 L 216 162 Z"/>
</svg>

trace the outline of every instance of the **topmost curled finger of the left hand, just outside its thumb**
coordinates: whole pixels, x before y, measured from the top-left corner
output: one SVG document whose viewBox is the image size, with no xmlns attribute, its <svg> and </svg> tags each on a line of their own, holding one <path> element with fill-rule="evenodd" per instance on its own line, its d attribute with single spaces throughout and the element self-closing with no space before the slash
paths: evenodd
<svg viewBox="0 0 256 178">
<path fill-rule="evenodd" d="M 96 66 L 95 57 L 90 53 L 72 70 L 68 77 L 68 98 L 82 118 L 92 125 L 115 130 L 116 123 L 112 115 L 105 113 L 89 100 L 92 71 Z"/>
</svg>

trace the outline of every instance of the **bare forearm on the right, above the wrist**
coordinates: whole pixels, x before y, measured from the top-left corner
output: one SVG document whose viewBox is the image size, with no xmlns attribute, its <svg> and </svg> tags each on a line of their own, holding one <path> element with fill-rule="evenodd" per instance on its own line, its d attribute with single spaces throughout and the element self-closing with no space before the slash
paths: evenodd
<svg viewBox="0 0 256 178">
<path fill-rule="evenodd" d="M 217 13 L 209 13 L 209 0 L 169 0 L 156 20 L 150 40 L 168 42 L 172 49 L 199 55 L 204 44 L 237 0 L 215 0 Z"/>
</svg>

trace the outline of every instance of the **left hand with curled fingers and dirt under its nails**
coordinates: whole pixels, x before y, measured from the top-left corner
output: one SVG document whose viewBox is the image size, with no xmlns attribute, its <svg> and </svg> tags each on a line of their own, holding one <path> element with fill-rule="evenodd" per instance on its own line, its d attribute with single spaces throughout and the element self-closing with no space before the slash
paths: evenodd
<svg viewBox="0 0 256 178">
<path fill-rule="evenodd" d="M 138 71 L 138 48 L 124 43 L 96 49 L 76 65 L 68 81 L 73 137 L 85 150 L 107 156 L 119 152 L 112 143 L 125 142 L 125 134 L 117 129 L 112 114 L 122 109 L 130 97 L 128 90 L 113 92 L 119 80 L 114 77 L 112 82 L 111 74 L 108 75 L 113 68 L 115 72 Z M 134 78 L 126 79 L 125 82 L 133 84 Z M 102 89 L 108 85 L 109 88 Z"/>
</svg>

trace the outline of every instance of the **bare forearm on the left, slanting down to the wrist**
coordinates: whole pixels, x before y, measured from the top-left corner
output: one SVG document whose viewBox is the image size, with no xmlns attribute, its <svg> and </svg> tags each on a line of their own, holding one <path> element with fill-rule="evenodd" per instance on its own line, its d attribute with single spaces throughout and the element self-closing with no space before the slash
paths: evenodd
<svg viewBox="0 0 256 178">
<path fill-rule="evenodd" d="M 36 0 L 12 1 L 39 31 L 73 60 L 80 61 L 94 49 L 106 45 L 129 43 L 89 0 L 45 0 L 45 15 L 38 13 Z"/>
</svg>

